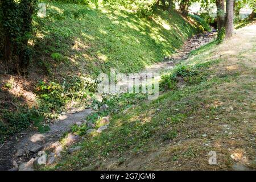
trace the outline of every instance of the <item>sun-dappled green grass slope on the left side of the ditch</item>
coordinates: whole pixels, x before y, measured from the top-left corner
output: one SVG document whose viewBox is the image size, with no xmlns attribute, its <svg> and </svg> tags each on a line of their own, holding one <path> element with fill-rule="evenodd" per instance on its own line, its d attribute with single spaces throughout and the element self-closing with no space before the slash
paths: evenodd
<svg viewBox="0 0 256 182">
<path fill-rule="evenodd" d="M 80 12 L 75 18 L 73 11 Z M 157 11 L 138 18 L 122 7 L 87 8 L 84 5 L 50 3 L 51 18 L 42 20 L 35 46 L 39 62 L 49 72 L 90 76 L 117 68 L 123 73 L 138 72 L 146 65 L 171 55 L 185 39 L 196 33 L 192 22 L 176 12 Z M 192 24 L 191 24 L 192 23 Z M 53 60 L 52 53 L 60 53 Z"/>
</svg>

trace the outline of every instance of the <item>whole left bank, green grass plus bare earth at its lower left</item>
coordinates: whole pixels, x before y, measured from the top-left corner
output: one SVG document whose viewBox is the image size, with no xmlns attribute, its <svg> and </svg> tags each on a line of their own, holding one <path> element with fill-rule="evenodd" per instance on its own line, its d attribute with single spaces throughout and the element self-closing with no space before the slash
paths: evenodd
<svg viewBox="0 0 256 182">
<path fill-rule="evenodd" d="M 177 13 L 158 11 L 151 19 L 145 19 L 115 6 L 94 9 L 49 3 L 47 16 L 34 17 L 36 54 L 30 75 L 0 76 L 0 141 L 31 125 L 35 120 L 31 118 L 32 106 L 47 118 L 73 107 L 72 101 L 83 101 L 85 106 L 90 100 L 89 90 L 80 88 L 84 84 L 78 75 L 95 77 L 101 71 L 109 72 L 111 67 L 125 73 L 139 71 L 175 52 L 197 31 L 193 22 Z M 52 88 L 39 93 L 35 85 L 40 80 L 60 82 L 58 87 L 65 86 L 65 90 Z M 68 96 L 63 97 L 63 93 Z M 28 95 L 33 96 L 29 103 Z"/>
</svg>

